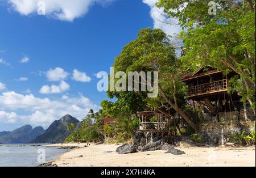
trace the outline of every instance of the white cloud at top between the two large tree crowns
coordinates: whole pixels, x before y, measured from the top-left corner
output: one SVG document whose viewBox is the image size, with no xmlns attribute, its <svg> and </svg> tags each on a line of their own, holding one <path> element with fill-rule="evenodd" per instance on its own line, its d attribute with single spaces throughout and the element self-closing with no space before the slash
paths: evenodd
<svg viewBox="0 0 256 178">
<path fill-rule="evenodd" d="M 158 0 L 142 0 L 142 2 L 150 6 L 150 15 L 154 20 L 154 28 L 162 29 L 168 35 L 178 34 L 181 31 L 180 26 L 177 25 L 177 23 L 179 23 L 178 20 L 167 18 L 163 9 L 158 9 L 158 7 L 155 6 Z"/>
</svg>

